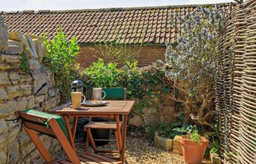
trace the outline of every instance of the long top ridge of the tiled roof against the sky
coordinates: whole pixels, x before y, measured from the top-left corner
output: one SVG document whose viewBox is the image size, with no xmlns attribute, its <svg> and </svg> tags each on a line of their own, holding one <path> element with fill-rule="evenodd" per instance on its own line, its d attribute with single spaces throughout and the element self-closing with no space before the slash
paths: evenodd
<svg viewBox="0 0 256 164">
<path fill-rule="evenodd" d="M 230 5 L 237 4 L 236 2 L 226 2 L 226 3 L 217 3 L 219 5 Z M 1 11 L 1 13 L 4 14 L 13 14 L 13 13 L 45 13 L 45 12 L 108 12 L 108 11 L 121 11 L 121 10 L 135 10 L 135 9 L 170 9 L 170 8 L 180 8 L 180 7 L 211 7 L 216 4 L 182 4 L 182 5 L 167 5 L 167 6 L 154 6 L 154 7 L 110 7 L 110 8 L 99 8 L 99 9 L 64 9 L 64 10 L 50 10 L 50 9 L 39 9 L 39 10 L 23 10 L 23 11 L 10 11 L 10 12 L 4 12 Z"/>
</svg>

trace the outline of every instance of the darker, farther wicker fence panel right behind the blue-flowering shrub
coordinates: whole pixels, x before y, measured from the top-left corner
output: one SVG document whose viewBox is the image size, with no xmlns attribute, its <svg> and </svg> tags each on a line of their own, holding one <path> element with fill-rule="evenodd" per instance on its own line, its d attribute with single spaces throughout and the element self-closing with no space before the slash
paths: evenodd
<svg viewBox="0 0 256 164">
<path fill-rule="evenodd" d="M 217 114 L 220 132 L 220 155 L 226 162 L 229 160 L 226 152 L 230 152 L 230 117 L 231 117 L 231 88 L 233 76 L 233 43 L 234 13 L 227 16 L 227 20 L 222 23 L 222 38 L 219 43 L 219 64 L 220 71 L 217 83 Z"/>
</svg>

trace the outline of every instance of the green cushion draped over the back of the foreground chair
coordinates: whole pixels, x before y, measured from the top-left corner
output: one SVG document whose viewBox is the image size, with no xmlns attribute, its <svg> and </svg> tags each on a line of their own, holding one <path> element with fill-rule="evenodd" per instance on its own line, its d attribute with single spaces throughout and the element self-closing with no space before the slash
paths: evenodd
<svg viewBox="0 0 256 164">
<path fill-rule="evenodd" d="M 46 112 L 41 112 L 41 111 L 37 111 L 34 109 L 26 109 L 23 112 L 27 113 L 27 114 L 32 114 L 32 115 L 36 115 L 39 117 L 46 117 L 47 119 L 53 118 L 56 120 L 56 122 L 58 122 L 61 130 L 63 131 L 64 135 L 67 136 L 67 129 L 66 126 L 64 124 L 64 120 L 62 119 L 61 116 L 57 115 L 57 114 L 49 114 Z M 48 122 L 45 122 L 45 127 L 50 128 L 50 126 L 48 125 Z"/>
</svg>

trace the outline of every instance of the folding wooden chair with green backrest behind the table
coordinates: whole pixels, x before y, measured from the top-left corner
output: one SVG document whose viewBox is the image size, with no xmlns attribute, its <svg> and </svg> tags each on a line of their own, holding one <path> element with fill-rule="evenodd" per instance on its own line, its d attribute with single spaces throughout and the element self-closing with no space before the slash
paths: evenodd
<svg viewBox="0 0 256 164">
<path fill-rule="evenodd" d="M 105 91 L 106 96 L 105 99 L 107 100 L 114 100 L 114 99 L 121 99 L 126 100 L 127 99 L 127 89 L 124 87 L 105 87 L 102 88 L 102 90 Z M 111 119 L 111 118 L 110 118 Z M 91 118 L 89 119 L 89 123 L 83 127 L 84 131 L 87 131 L 86 136 L 86 152 L 89 151 L 89 141 L 91 142 L 91 147 L 94 150 L 94 152 L 121 152 L 121 122 L 119 122 L 119 115 L 113 116 L 113 119 L 116 122 L 94 122 L 91 121 Z M 102 139 L 94 139 L 91 134 L 91 129 L 109 129 L 115 131 L 116 141 L 117 141 L 117 147 L 118 151 L 114 150 L 97 150 L 96 144 L 94 141 L 103 141 Z M 119 129 L 119 130 L 116 130 Z M 108 140 L 105 140 L 108 141 Z"/>
</svg>

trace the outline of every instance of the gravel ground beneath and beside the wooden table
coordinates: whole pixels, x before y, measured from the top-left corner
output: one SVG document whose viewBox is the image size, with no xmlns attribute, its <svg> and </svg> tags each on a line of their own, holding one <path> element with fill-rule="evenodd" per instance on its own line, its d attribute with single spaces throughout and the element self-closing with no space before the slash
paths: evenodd
<svg viewBox="0 0 256 164">
<path fill-rule="evenodd" d="M 85 144 L 78 142 L 76 144 L 78 152 L 84 152 Z M 99 149 L 114 149 L 116 142 L 111 141 L 110 144 Z M 118 157 L 118 155 L 114 155 Z M 165 152 L 162 149 L 154 147 L 153 143 L 147 141 L 146 137 L 141 133 L 130 133 L 127 135 L 127 151 L 125 155 L 127 164 L 184 164 L 181 155 L 174 154 L 173 152 Z M 204 164 L 210 164 L 208 160 L 203 161 Z"/>
</svg>

